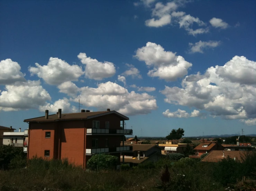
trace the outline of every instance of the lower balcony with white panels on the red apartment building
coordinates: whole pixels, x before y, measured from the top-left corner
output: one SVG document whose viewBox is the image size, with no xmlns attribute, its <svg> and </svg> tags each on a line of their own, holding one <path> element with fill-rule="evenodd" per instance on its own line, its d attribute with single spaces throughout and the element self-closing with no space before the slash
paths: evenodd
<svg viewBox="0 0 256 191">
<path fill-rule="evenodd" d="M 86 149 L 86 154 L 91 155 L 97 153 L 117 153 L 123 151 L 132 151 L 132 146 Z"/>
</svg>

